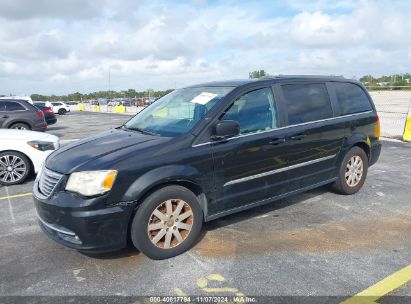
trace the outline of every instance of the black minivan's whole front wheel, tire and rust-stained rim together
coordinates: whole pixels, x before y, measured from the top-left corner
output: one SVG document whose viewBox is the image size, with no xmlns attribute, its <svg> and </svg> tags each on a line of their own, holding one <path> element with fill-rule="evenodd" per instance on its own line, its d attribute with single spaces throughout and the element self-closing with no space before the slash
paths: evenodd
<svg viewBox="0 0 411 304">
<path fill-rule="evenodd" d="M 202 222 L 203 212 L 195 194 L 182 186 L 166 186 L 149 195 L 137 210 L 131 239 L 146 256 L 167 259 L 194 245 Z"/>
</svg>

